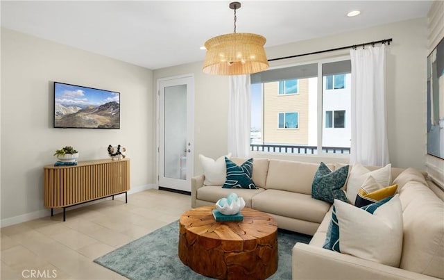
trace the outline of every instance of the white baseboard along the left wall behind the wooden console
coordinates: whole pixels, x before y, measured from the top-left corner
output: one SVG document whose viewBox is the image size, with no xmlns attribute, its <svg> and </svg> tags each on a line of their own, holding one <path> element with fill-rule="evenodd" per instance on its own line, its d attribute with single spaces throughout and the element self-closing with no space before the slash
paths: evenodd
<svg viewBox="0 0 444 280">
<path fill-rule="evenodd" d="M 138 186 L 138 187 L 131 188 L 128 191 L 128 195 L 132 195 L 133 193 L 136 193 L 136 192 L 143 192 L 144 190 L 157 189 L 157 188 L 158 187 L 155 184 L 148 184 L 148 185 L 145 185 L 145 186 Z M 125 194 L 115 195 L 114 197 L 121 197 L 123 195 L 125 195 Z M 69 211 L 69 210 L 72 210 L 72 209 L 76 209 L 76 208 L 79 208 L 79 207 L 82 207 L 82 206 L 85 206 L 85 205 L 96 204 L 96 203 L 99 203 L 99 202 L 101 202 L 103 200 L 106 200 L 106 199 L 111 199 L 111 197 L 107 197 L 107 198 L 104 198 L 104 199 L 99 199 L 99 200 L 87 202 L 87 203 L 82 204 L 82 205 L 71 206 L 71 207 L 67 208 L 66 211 Z M 63 210 L 61 208 L 60 209 L 54 209 L 54 211 L 53 211 L 54 215 L 56 215 L 58 213 L 62 213 L 62 212 L 63 212 Z M 15 217 L 8 217 L 6 219 L 0 220 L 0 228 L 12 226 L 14 224 L 19 224 L 19 223 L 22 223 L 22 222 L 28 222 L 28 221 L 35 220 L 35 219 L 40 219 L 41 217 L 47 217 L 47 216 L 50 216 L 50 215 L 51 215 L 51 209 L 42 209 L 42 210 L 39 210 L 39 211 L 34 211 L 34 212 L 26 213 L 26 214 L 23 214 L 23 215 L 18 215 L 18 216 L 15 216 Z"/>
</svg>

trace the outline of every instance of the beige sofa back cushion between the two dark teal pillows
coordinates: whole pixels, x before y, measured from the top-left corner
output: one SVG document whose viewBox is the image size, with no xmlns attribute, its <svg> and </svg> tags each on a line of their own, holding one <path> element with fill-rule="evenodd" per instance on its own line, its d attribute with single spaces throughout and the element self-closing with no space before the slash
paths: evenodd
<svg viewBox="0 0 444 280">
<path fill-rule="evenodd" d="M 327 166 L 330 170 L 334 167 L 328 164 Z M 318 167 L 318 163 L 271 159 L 268 164 L 266 188 L 311 195 L 311 183 Z"/>
</svg>

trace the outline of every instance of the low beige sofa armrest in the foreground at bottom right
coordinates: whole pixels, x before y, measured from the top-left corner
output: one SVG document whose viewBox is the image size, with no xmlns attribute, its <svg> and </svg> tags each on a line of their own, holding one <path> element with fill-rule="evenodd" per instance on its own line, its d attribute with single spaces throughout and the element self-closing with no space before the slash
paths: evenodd
<svg viewBox="0 0 444 280">
<path fill-rule="evenodd" d="M 293 247 L 293 279 L 437 279 L 348 254 L 298 242 Z"/>
</svg>

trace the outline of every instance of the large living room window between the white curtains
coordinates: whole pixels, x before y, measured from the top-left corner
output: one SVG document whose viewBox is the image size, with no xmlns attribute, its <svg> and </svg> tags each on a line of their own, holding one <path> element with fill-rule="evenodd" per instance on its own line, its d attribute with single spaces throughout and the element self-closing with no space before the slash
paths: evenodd
<svg viewBox="0 0 444 280">
<path fill-rule="evenodd" d="M 350 153 L 348 58 L 266 70 L 250 78 L 253 151 Z"/>
</svg>

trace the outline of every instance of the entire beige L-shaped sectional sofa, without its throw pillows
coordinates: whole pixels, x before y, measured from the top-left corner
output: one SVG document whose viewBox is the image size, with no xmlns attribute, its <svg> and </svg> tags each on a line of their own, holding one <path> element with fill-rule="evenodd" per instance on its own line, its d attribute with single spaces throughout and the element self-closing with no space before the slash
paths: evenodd
<svg viewBox="0 0 444 280">
<path fill-rule="evenodd" d="M 240 165 L 246 158 L 231 160 Z M 343 165 L 327 166 L 335 170 Z M 311 198 L 311 183 L 318 167 L 317 163 L 254 158 L 252 179 L 257 190 L 205 186 L 205 176 L 195 176 L 191 180 L 191 206 L 214 205 L 221 197 L 236 192 L 244 198 L 246 207 L 268 213 L 281 229 L 313 235 L 309 245 L 296 243 L 293 248 L 293 279 L 444 278 L 443 196 L 436 186 L 436 192 L 429 188 L 433 184 L 426 180 L 426 174 L 411 168 L 391 168 L 404 222 L 398 268 L 323 249 L 332 204 Z"/>
</svg>

